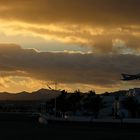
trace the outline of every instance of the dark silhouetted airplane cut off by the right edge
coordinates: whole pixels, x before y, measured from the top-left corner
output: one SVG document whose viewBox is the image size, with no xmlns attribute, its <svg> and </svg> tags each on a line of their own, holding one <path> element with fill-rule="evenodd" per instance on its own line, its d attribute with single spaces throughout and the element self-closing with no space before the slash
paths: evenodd
<svg viewBox="0 0 140 140">
<path fill-rule="evenodd" d="M 122 79 L 123 81 L 130 81 L 130 80 L 140 80 L 140 73 L 139 74 L 121 74 L 122 75 Z"/>
</svg>

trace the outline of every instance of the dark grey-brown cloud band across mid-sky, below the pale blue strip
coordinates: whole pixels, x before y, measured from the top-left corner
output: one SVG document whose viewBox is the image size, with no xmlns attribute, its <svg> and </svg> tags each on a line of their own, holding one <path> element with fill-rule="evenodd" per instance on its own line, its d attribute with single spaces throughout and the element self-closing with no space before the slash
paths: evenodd
<svg viewBox="0 0 140 140">
<path fill-rule="evenodd" d="M 12 51 L 14 50 L 14 51 Z M 36 52 L 16 45 L 0 45 L 0 71 L 8 76 L 27 76 L 59 83 L 94 84 L 103 87 L 120 83 L 120 74 L 137 73 L 140 56 Z M 3 76 L 4 76 L 3 75 Z"/>
</svg>

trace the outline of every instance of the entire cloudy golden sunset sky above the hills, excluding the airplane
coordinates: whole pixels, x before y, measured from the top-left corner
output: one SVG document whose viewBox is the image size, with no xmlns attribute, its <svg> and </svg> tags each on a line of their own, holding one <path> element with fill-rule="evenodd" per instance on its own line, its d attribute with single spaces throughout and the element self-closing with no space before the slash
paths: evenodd
<svg viewBox="0 0 140 140">
<path fill-rule="evenodd" d="M 0 91 L 140 87 L 140 0 L 0 0 Z"/>
</svg>

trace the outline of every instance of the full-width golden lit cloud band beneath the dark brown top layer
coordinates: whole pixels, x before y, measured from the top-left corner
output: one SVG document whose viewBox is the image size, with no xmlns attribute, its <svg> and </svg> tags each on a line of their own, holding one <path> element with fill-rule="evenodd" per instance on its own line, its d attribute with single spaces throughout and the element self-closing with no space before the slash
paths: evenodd
<svg viewBox="0 0 140 140">
<path fill-rule="evenodd" d="M 74 24 L 30 24 L 19 21 L 0 20 L 0 32 L 7 36 L 32 36 L 47 40 L 56 40 L 63 43 L 91 47 L 96 52 L 114 51 L 113 41 L 121 40 L 128 49 L 137 49 L 132 46 L 132 40 L 139 44 L 140 26 L 126 26 L 124 28 L 97 27 Z M 130 51 L 129 51 L 130 52 Z"/>
</svg>

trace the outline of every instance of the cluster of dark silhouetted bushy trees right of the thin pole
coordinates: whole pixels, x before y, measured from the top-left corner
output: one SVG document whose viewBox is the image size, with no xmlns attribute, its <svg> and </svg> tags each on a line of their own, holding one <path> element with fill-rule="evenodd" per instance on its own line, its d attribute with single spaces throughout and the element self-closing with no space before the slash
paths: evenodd
<svg viewBox="0 0 140 140">
<path fill-rule="evenodd" d="M 54 107 L 54 99 L 48 104 Z M 61 95 L 56 98 L 57 112 L 65 114 L 71 112 L 73 115 L 78 111 L 92 113 L 95 118 L 98 118 L 100 110 L 105 107 L 105 103 L 100 95 L 96 95 L 95 91 L 89 91 L 87 94 L 82 94 L 79 90 L 74 93 L 62 91 Z"/>
</svg>

